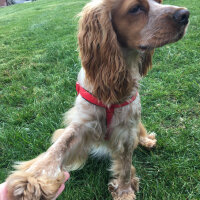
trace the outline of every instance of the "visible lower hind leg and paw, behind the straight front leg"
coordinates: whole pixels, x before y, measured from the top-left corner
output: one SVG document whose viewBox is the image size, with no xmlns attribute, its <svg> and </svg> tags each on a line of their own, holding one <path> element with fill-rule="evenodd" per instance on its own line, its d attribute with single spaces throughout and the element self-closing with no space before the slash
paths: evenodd
<svg viewBox="0 0 200 200">
<path fill-rule="evenodd" d="M 156 134 L 150 133 L 148 134 L 144 125 L 139 123 L 139 144 L 146 148 L 153 148 L 156 146 Z"/>
</svg>

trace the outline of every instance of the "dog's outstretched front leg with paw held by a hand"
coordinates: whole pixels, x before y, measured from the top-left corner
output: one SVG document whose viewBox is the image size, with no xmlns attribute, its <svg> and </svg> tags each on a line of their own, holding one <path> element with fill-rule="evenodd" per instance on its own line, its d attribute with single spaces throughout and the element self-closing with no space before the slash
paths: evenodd
<svg viewBox="0 0 200 200">
<path fill-rule="evenodd" d="M 9 200 L 53 199 L 65 179 L 63 163 L 75 158 L 77 152 L 87 151 L 81 149 L 87 129 L 71 124 L 45 153 L 19 163 L 6 180 Z"/>
</svg>

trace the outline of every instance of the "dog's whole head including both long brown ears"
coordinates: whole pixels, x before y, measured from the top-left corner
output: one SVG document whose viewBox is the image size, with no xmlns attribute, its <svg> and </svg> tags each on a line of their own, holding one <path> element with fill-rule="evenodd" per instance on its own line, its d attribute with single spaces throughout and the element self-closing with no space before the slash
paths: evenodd
<svg viewBox="0 0 200 200">
<path fill-rule="evenodd" d="M 151 67 L 154 48 L 185 33 L 189 11 L 161 0 L 93 0 L 79 22 L 79 49 L 87 80 L 103 102 L 117 103 L 133 80 L 122 48 L 140 55 L 140 74 Z"/>
</svg>

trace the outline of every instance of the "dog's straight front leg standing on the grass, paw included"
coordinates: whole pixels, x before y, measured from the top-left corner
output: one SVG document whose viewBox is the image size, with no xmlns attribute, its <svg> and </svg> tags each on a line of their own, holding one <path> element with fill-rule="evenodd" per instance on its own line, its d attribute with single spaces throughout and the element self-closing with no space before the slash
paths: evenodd
<svg viewBox="0 0 200 200">
<path fill-rule="evenodd" d="M 119 146 L 118 146 L 119 147 Z M 132 153 L 135 145 L 126 141 L 120 149 L 112 152 L 113 179 L 108 188 L 114 200 L 133 200 L 136 198 L 139 180 L 135 177 L 135 168 L 132 166 Z"/>
</svg>

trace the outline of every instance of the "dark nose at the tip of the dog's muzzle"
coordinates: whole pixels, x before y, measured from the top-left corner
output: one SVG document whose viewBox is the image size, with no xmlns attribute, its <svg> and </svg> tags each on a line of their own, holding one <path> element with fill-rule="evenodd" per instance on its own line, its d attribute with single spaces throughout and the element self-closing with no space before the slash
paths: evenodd
<svg viewBox="0 0 200 200">
<path fill-rule="evenodd" d="M 177 10 L 174 15 L 173 15 L 173 19 L 181 24 L 181 25 L 187 25 L 188 24 L 188 19 L 190 16 L 190 12 L 187 9 L 179 9 Z"/>
</svg>

